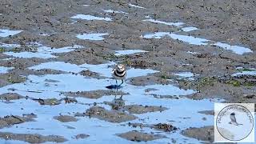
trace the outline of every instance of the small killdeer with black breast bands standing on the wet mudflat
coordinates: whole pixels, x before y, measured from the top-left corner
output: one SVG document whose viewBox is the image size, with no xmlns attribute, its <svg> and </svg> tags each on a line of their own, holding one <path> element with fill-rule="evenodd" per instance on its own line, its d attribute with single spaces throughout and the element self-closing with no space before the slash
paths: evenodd
<svg viewBox="0 0 256 144">
<path fill-rule="evenodd" d="M 126 79 L 126 67 L 122 64 L 118 64 L 112 70 L 112 76 L 115 79 L 116 85 L 118 86 L 118 79 L 123 80 Z M 119 85 L 121 86 L 122 83 Z"/>
</svg>

